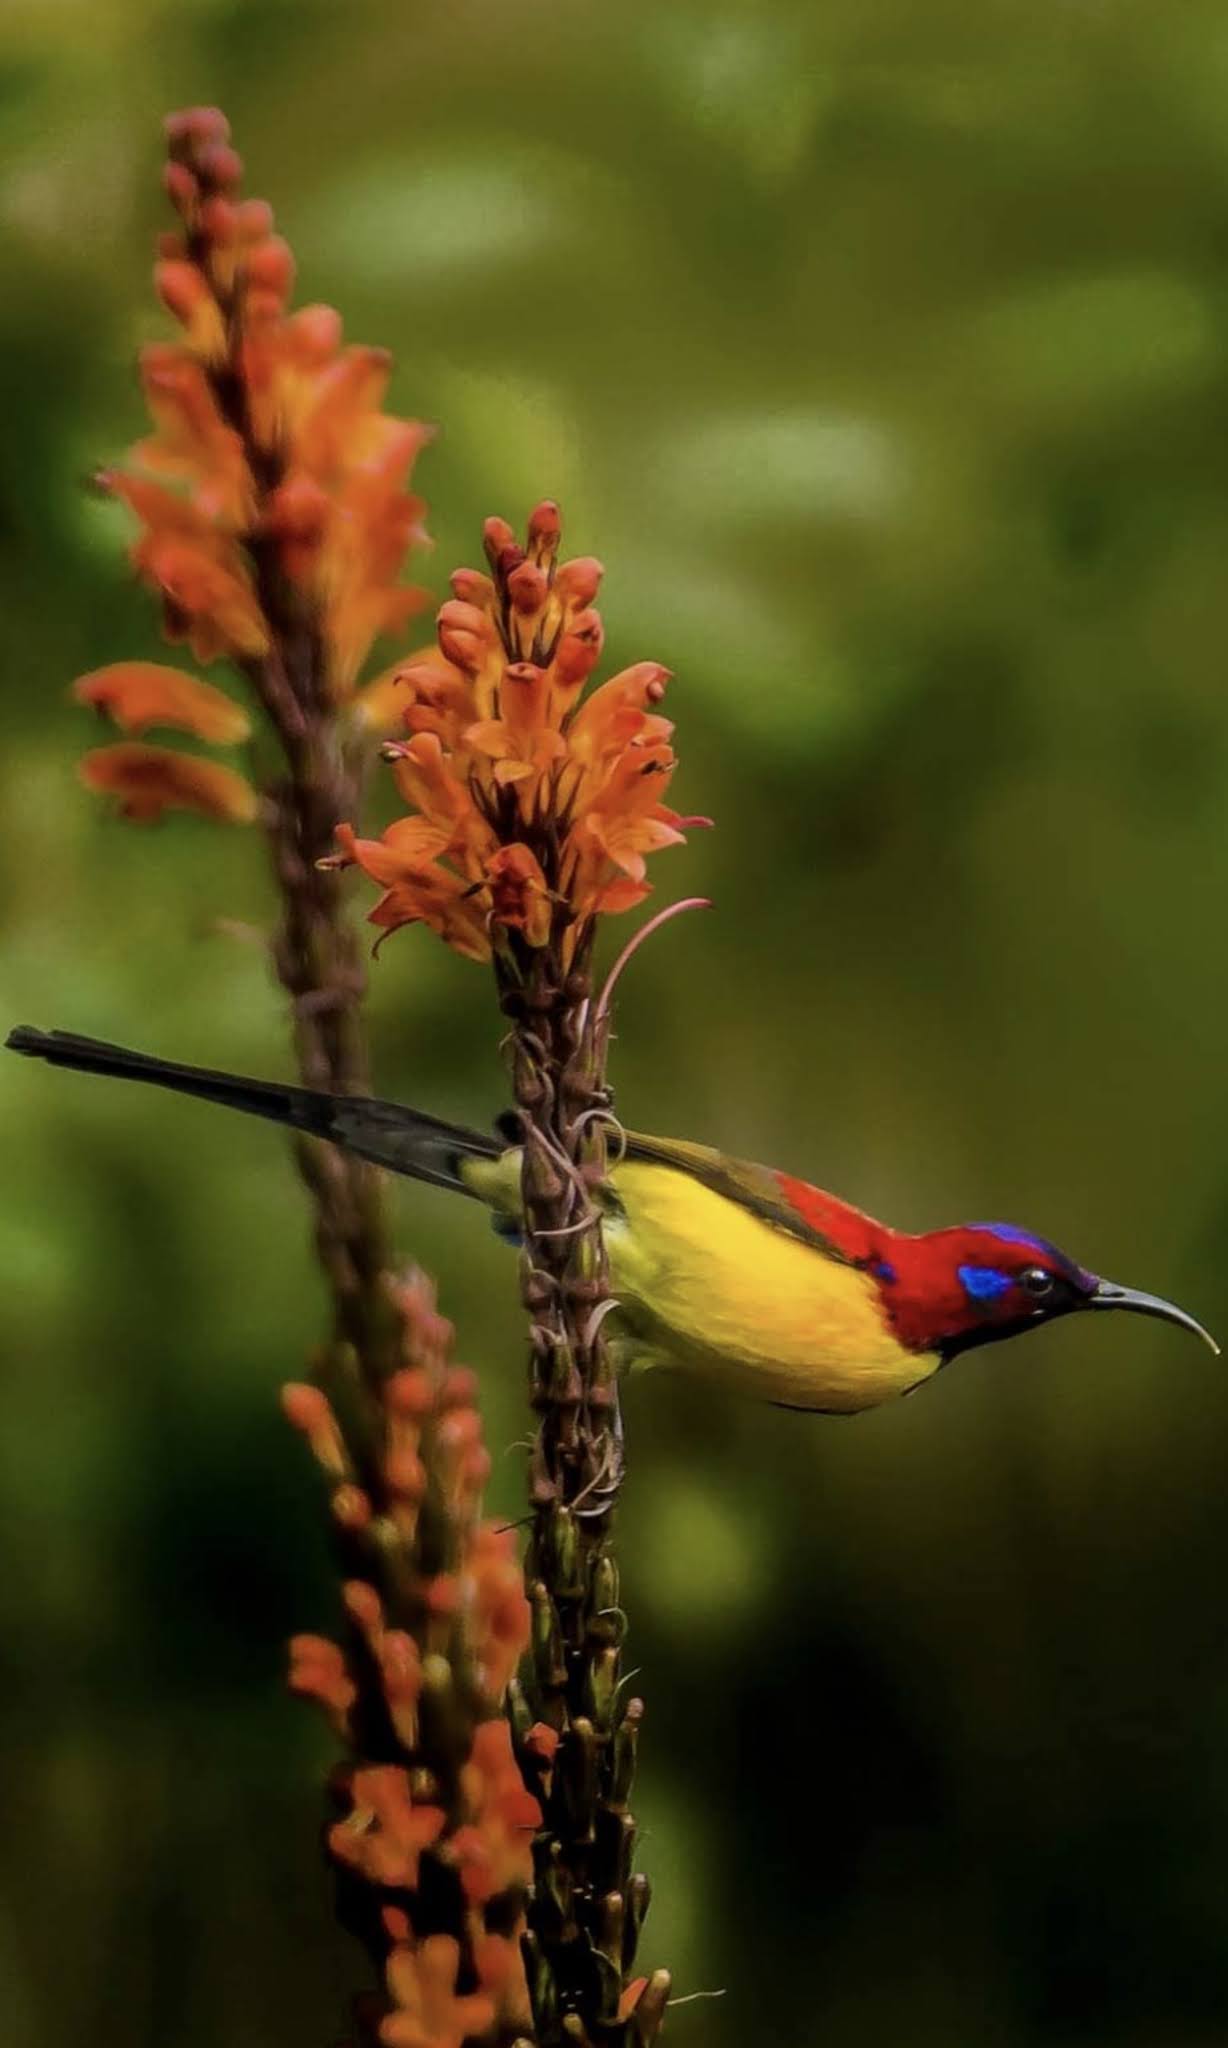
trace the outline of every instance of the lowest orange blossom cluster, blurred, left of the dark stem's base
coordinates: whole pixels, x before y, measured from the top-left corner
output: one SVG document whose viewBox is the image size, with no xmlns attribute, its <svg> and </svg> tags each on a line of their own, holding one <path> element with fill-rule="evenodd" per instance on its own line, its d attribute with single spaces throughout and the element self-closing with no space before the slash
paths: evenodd
<svg viewBox="0 0 1228 2048">
<path fill-rule="evenodd" d="M 448 1362 L 452 1331 L 422 1276 L 395 1288 L 395 1305 L 405 1364 L 383 1389 L 366 1483 L 321 1389 L 282 1395 L 327 1477 L 346 1556 L 358 1559 L 344 1587 L 348 1651 L 295 1636 L 291 1688 L 317 1700 L 350 1745 L 327 1847 L 379 1909 L 381 2040 L 461 2048 L 495 2023 L 528 2025 L 520 1931 L 540 1806 L 503 1702 L 530 1610 L 514 1532 L 481 1520 L 489 1454 L 475 1376 Z M 372 1724 L 391 1731 L 391 1753 L 362 1755 L 360 1731 Z M 549 1745 L 551 1731 L 532 1733 Z M 413 1925 L 424 1858 L 454 1874 L 461 1933 L 422 1937 Z"/>
</svg>

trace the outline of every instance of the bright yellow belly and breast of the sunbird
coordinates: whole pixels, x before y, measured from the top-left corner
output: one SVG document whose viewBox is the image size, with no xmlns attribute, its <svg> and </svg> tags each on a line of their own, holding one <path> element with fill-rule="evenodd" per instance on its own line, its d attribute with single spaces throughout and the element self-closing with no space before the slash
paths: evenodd
<svg viewBox="0 0 1228 2048">
<path fill-rule="evenodd" d="M 632 1364 L 677 1364 L 759 1401 L 853 1413 L 937 1370 L 901 1346 L 874 1282 L 688 1174 L 655 1163 L 612 1176 L 606 1223 L 620 1346 Z"/>
</svg>

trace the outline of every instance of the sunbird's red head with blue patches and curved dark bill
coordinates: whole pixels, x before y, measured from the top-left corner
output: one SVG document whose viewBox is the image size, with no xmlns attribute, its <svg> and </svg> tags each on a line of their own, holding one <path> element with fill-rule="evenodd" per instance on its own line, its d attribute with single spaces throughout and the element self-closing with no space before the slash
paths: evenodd
<svg viewBox="0 0 1228 2048">
<path fill-rule="evenodd" d="M 884 1233 L 870 1264 L 884 1315 L 913 1352 L 954 1358 L 1077 1309 L 1132 1309 L 1214 1339 L 1158 1294 L 1115 1286 L 1013 1223 L 966 1223 L 923 1237 Z"/>
</svg>

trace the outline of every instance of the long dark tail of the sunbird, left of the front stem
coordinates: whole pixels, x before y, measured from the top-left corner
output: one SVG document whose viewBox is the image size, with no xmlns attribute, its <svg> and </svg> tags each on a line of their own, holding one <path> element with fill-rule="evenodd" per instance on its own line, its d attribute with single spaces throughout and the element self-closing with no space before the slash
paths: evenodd
<svg viewBox="0 0 1228 2048">
<path fill-rule="evenodd" d="M 274 1124 L 307 1130 L 330 1139 L 346 1151 L 387 1165 L 393 1174 L 428 1180 L 436 1188 L 473 1192 L 461 1176 L 463 1159 L 495 1159 L 501 1145 L 463 1124 L 444 1124 L 436 1116 L 401 1108 L 399 1102 L 379 1102 L 370 1096 L 325 1096 L 311 1087 L 284 1081 L 250 1081 L 237 1073 L 217 1073 L 211 1067 L 180 1067 L 172 1059 L 131 1053 L 102 1038 L 78 1038 L 68 1030 L 35 1030 L 18 1024 L 8 1032 L 8 1051 L 45 1059 L 53 1067 L 76 1067 L 82 1073 L 111 1073 L 125 1081 L 149 1081 L 172 1087 L 180 1096 L 201 1096 L 221 1102 L 248 1116 L 266 1116 Z"/>
</svg>

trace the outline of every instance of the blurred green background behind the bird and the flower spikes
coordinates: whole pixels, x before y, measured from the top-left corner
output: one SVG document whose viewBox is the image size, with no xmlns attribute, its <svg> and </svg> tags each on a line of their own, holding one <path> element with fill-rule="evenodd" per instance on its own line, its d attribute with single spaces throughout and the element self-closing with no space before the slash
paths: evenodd
<svg viewBox="0 0 1228 2048">
<path fill-rule="evenodd" d="M 115 510 L 164 109 L 223 102 L 303 297 L 397 354 L 438 553 L 563 502 L 677 672 L 706 891 L 628 1120 L 927 1227 L 1013 1217 L 1228 1329 L 1228 20 L 825 0 L 6 0 L 0 1016 L 287 1071 L 260 848 L 74 778 L 158 653 Z M 377 1079 L 501 1104 L 481 971 L 372 973 Z M 280 1143 L 0 1061 L 12 2048 L 332 2038 L 327 1626 L 276 1386 L 321 1327 Z M 397 1188 L 516 1511 L 514 1266 Z M 622 1518 L 677 2048 L 1228 2036 L 1228 1378 L 1097 1319 L 823 1421 L 649 1378 Z"/>
</svg>

